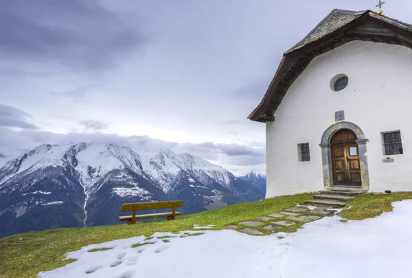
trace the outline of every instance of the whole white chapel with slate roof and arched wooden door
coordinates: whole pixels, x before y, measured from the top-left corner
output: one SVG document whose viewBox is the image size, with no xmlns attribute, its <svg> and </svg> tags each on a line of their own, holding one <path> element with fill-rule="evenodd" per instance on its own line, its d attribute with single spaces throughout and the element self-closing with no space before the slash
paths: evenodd
<svg viewBox="0 0 412 278">
<path fill-rule="evenodd" d="M 412 191 L 412 25 L 333 10 L 284 53 L 249 119 L 266 123 L 266 197 Z"/>
</svg>

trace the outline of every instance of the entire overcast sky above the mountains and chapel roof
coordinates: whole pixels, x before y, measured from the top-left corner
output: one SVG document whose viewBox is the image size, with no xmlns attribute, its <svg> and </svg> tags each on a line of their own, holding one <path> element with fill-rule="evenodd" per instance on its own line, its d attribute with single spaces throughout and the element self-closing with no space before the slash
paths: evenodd
<svg viewBox="0 0 412 278">
<path fill-rule="evenodd" d="M 282 54 L 334 8 L 377 2 L 0 0 L 0 147 L 115 142 L 265 171 L 247 116 Z M 410 0 L 386 2 L 412 23 Z"/>
</svg>

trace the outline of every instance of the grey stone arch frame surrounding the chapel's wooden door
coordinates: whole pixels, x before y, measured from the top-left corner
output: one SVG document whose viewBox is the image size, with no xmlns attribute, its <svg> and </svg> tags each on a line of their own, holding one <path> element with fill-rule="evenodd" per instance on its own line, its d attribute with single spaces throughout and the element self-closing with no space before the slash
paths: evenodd
<svg viewBox="0 0 412 278">
<path fill-rule="evenodd" d="M 325 132 L 323 132 L 321 138 L 321 150 L 322 150 L 322 164 L 323 164 L 323 185 L 325 190 L 332 190 L 334 186 L 333 182 L 333 171 L 332 171 L 332 153 L 330 150 L 330 140 L 334 133 L 342 129 L 350 129 L 354 131 L 356 137 L 355 140 L 358 143 L 358 152 L 359 152 L 359 166 L 361 167 L 361 181 L 362 187 L 358 188 L 348 188 L 353 191 L 369 191 L 369 169 L 367 167 L 367 153 L 366 153 L 366 144 L 369 141 L 365 138 L 365 133 L 363 133 L 361 127 L 355 125 L 353 122 L 336 122 L 330 127 L 328 127 Z M 345 186 L 346 187 L 346 186 Z"/>
</svg>

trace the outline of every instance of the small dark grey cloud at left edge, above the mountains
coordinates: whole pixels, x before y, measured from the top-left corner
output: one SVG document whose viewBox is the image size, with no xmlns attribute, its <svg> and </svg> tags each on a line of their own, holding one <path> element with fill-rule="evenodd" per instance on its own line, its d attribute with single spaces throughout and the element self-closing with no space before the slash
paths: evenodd
<svg viewBox="0 0 412 278">
<path fill-rule="evenodd" d="M 0 126 L 1 127 L 18 127 L 21 129 L 38 129 L 36 125 L 30 123 L 32 118 L 25 111 L 0 104 Z"/>
</svg>

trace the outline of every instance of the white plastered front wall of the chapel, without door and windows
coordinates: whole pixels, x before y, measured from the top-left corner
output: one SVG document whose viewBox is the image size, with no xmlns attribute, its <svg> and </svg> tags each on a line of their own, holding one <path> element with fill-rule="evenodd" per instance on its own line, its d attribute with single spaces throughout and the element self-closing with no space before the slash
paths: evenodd
<svg viewBox="0 0 412 278">
<path fill-rule="evenodd" d="M 349 84 L 332 92 L 330 81 Z M 266 123 L 266 197 L 323 189 L 321 136 L 334 112 L 361 127 L 367 143 L 369 191 L 412 191 L 412 52 L 407 47 L 354 41 L 314 58 Z M 400 130 L 403 155 L 384 156 L 381 132 Z M 297 144 L 310 144 L 299 162 Z M 384 163 L 383 158 L 395 162 Z"/>
</svg>

